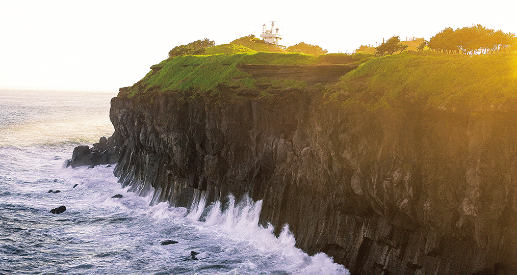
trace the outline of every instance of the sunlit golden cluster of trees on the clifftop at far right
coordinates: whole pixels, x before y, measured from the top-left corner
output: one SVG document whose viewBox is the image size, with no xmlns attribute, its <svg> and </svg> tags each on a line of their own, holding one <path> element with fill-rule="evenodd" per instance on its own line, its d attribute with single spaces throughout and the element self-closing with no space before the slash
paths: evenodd
<svg viewBox="0 0 517 275">
<path fill-rule="evenodd" d="M 473 55 L 510 51 L 516 47 L 517 39 L 512 33 L 495 31 L 478 24 L 455 30 L 445 28 L 423 43 L 438 53 Z"/>
</svg>

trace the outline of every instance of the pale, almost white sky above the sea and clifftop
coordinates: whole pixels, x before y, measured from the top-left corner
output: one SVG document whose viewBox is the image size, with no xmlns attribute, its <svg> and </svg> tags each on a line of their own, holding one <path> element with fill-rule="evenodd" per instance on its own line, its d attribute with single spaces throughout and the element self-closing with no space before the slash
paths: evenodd
<svg viewBox="0 0 517 275">
<path fill-rule="evenodd" d="M 270 21 L 286 46 L 337 53 L 472 24 L 517 33 L 516 8 L 514 0 L 0 0 L 0 89 L 118 91 L 176 45 L 259 37 Z"/>
</svg>

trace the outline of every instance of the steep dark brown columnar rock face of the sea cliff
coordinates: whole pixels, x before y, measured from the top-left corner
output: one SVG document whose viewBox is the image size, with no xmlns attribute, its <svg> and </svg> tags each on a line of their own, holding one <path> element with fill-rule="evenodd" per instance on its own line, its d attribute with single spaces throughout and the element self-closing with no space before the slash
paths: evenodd
<svg viewBox="0 0 517 275">
<path fill-rule="evenodd" d="M 516 274 L 515 106 L 324 101 L 311 89 L 224 106 L 114 98 L 115 174 L 174 206 L 263 200 L 262 224 L 288 224 L 299 248 L 353 274 Z"/>
</svg>

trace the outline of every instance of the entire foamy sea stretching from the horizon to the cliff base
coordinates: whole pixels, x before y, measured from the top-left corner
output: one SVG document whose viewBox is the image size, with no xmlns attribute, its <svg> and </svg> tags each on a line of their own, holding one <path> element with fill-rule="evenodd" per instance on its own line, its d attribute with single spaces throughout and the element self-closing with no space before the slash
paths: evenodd
<svg viewBox="0 0 517 275">
<path fill-rule="evenodd" d="M 113 133 L 115 95 L 0 91 L 0 274 L 349 274 L 295 248 L 287 226 L 258 225 L 261 201 L 188 212 L 121 188 L 114 166 L 65 168 Z"/>
</svg>

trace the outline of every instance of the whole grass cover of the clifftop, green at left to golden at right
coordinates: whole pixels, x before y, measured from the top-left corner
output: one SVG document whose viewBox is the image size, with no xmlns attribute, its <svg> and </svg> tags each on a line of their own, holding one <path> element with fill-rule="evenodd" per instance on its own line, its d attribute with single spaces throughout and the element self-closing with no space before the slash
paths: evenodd
<svg viewBox="0 0 517 275">
<path fill-rule="evenodd" d="M 361 64 L 326 92 L 329 102 L 343 106 L 378 109 L 415 103 L 444 109 L 455 105 L 499 108 L 503 103 L 517 102 L 517 53 L 468 56 L 420 52 L 381 58 L 363 53 L 318 57 L 266 52 L 188 55 L 154 65 L 138 83 L 121 88 L 118 96 L 142 100 L 176 92 L 219 96 L 228 90 L 257 90 L 264 84 L 264 79 L 254 79 L 239 70 L 241 64 L 336 63 Z M 286 83 L 300 87 L 298 83 Z M 277 83 L 276 87 L 282 85 Z"/>
</svg>

